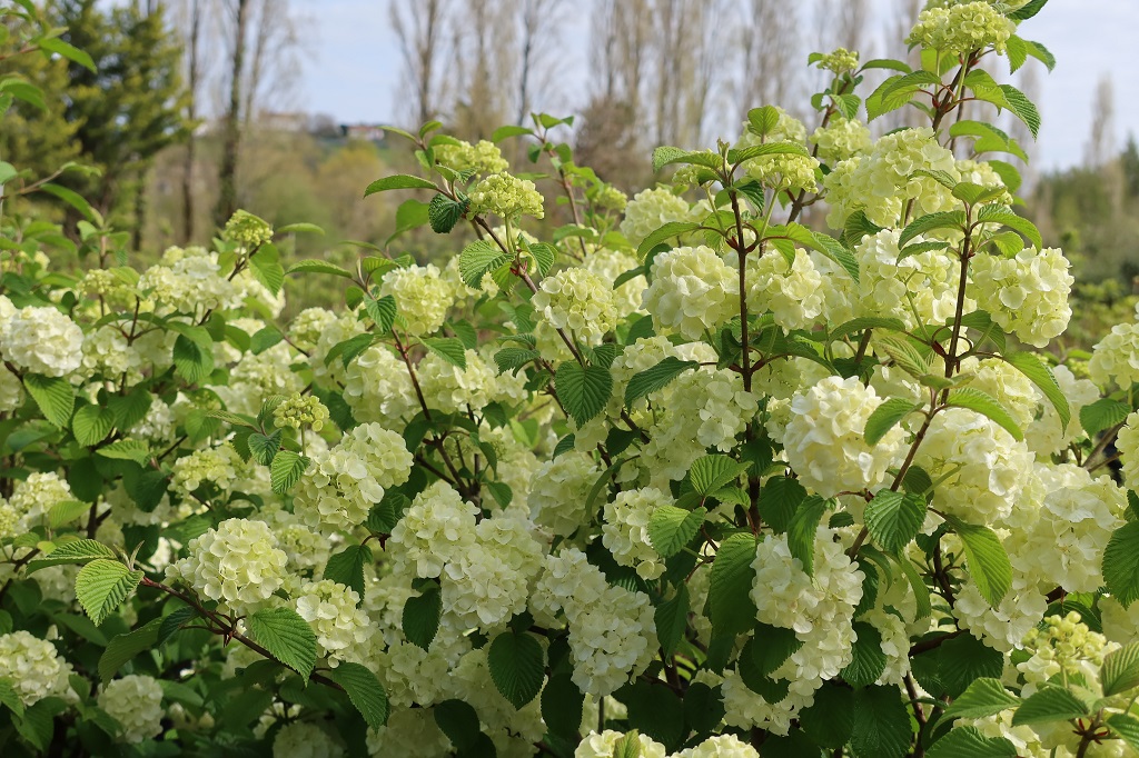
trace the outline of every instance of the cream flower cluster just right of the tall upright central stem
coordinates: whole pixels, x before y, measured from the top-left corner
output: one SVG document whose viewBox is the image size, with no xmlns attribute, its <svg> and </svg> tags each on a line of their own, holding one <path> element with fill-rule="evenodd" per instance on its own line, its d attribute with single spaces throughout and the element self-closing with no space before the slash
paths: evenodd
<svg viewBox="0 0 1139 758">
<path fill-rule="evenodd" d="M 747 257 L 747 307 L 752 313 L 770 311 L 784 329 L 809 329 L 822 313 L 822 274 L 811 256 L 795 248 L 795 261 L 777 250 Z"/>
</svg>

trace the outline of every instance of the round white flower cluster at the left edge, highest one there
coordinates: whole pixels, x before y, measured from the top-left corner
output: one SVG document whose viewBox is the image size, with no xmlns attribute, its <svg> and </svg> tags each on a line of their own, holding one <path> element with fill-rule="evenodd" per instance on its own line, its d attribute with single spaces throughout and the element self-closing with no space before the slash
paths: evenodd
<svg viewBox="0 0 1139 758">
<path fill-rule="evenodd" d="M 46 377 L 66 377 L 82 365 L 83 330 L 56 308 L 28 306 L 2 313 L 0 357 L 5 361 Z"/>
</svg>

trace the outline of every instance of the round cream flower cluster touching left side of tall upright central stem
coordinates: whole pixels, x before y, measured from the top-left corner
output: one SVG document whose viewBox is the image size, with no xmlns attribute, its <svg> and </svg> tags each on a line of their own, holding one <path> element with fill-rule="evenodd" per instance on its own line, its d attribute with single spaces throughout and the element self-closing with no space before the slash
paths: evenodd
<svg viewBox="0 0 1139 758">
<path fill-rule="evenodd" d="M 739 313 L 739 277 L 711 247 L 678 247 L 654 258 L 644 303 L 657 330 L 699 339 Z"/>
</svg>

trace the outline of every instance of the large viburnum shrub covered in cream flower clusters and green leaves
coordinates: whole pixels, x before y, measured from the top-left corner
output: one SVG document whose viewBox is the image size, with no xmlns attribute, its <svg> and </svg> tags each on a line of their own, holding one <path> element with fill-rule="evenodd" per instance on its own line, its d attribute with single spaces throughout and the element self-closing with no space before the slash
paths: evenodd
<svg viewBox="0 0 1139 758">
<path fill-rule="evenodd" d="M 429 190 L 396 234 L 437 265 L 286 271 L 311 228 L 238 213 L 138 271 L 0 163 L 85 216 L 0 238 L 3 755 L 1137 755 L 1139 323 L 1047 352 L 1068 263 L 961 116 L 1036 131 L 981 64 L 1051 67 L 1043 5 L 929 2 L 916 71 L 812 55 L 810 135 L 755 108 L 631 200 L 568 120 L 390 130 L 423 175 L 367 191 Z M 16 41 L 82 60 L 52 33 Z M 279 323 L 290 274 L 343 307 Z"/>
</svg>

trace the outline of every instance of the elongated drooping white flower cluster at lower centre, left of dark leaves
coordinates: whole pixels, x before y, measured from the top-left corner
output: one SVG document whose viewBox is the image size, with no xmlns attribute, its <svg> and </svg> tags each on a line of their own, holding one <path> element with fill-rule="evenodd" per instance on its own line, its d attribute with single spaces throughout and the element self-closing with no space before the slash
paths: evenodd
<svg viewBox="0 0 1139 758">
<path fill-rule="evenodd" d="M 658 643 L 648 595 L 608 584 L 574 547 L 547 557 L 531 599 L 535 617 L 558 610 L 570 625 L 572 678 L 582 692 L 611 694 L 652 662 Z"/>
</svg>

